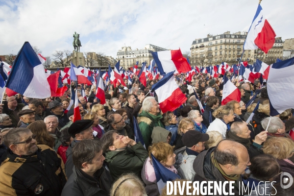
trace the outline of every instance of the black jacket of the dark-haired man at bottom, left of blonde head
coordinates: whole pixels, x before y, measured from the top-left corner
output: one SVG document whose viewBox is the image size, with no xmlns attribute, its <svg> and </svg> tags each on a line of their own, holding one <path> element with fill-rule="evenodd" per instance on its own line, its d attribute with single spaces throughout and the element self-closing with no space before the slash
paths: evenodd
<svg viewBox="0 0 294 196">
<path fill-rule="evenodd" d="M 94 176 L 74 167 L 61 196 L 108 196 L 113 183 L 110 173 L 103 166 Z"/>
</svg>

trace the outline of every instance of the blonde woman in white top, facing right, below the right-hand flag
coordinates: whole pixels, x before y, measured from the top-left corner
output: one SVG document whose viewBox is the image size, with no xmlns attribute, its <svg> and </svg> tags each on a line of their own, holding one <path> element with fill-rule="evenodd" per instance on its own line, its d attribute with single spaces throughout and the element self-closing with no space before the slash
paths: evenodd
<svg viewBox="0 0 294 196">
<path fill-rule="evenodd" d="M 232 108 L 226 105 L 222 105 L 216 109 L 212 115 L 216 118 L 207 128 L 206 132 L 218 131 L 221 133 L 222 138 L 226 138 L 226 132 L 230 130 L 230 122 L 234 121 L 234 112 Z"/>
</svg>

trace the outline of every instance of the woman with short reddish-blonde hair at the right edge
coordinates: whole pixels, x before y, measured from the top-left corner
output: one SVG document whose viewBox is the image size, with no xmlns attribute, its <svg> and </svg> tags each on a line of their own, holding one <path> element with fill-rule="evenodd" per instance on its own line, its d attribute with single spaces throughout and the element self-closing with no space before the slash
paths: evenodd
<svg viewBox="0 0 294 196">
<path fill-rule="evenodd" d="M 265 154 L 270 154 L 277 159 L 282 172 L 288 172 L 294 176 L 294 163 L 290 157 L 294 154 L 294 141 L 289 138 L 274 137 L 268 139 L 263 146 Z"/>
</svg>

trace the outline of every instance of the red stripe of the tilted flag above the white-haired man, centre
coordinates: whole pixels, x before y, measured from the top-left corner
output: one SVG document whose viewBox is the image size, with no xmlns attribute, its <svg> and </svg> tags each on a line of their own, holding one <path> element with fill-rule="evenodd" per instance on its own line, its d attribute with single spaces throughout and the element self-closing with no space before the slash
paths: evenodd
<svg viewBox="0 0 294 196">
<path fill-rule="evenodd" d="M 177 88 L 172 92 L 172 95 L 165 99 L 163 102 L 159 103 L 160 109 L 163 113 L 167 111 L 173 111 L 178 108 L 182 103 L 187 100 L 186 96 L 182 93 L 180 88 Z"/>
</svg>

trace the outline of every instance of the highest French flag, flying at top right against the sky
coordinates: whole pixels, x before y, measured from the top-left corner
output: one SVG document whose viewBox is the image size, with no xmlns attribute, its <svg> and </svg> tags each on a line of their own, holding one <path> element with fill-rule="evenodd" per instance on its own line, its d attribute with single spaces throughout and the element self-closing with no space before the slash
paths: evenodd
<svg viewBox="0 0 294 196">
<path fill-rule="evenodd" d="M 259 4 L 252 24 L 249 28 L 243 49 L 262 49 L 268 53 L 275 41 L 275 32 L 266 19 Z"/>
</svg>

